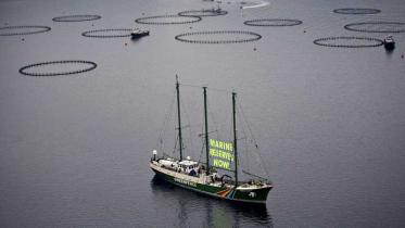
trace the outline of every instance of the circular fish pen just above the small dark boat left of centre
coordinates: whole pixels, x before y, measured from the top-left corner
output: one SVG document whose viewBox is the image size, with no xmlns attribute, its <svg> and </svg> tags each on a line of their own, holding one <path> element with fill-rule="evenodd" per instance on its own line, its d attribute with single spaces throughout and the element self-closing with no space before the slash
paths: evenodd
<svg viewBox="0 0 405 228">
<path fill-rule="evenodd" d="M 138 24 L 148 25 L 178 25 L 200 22 L 201 16 L 180 16 L 180 15 L 161 15 L 161 16 L 147 16 L 135 20 Z"/>
</svg>

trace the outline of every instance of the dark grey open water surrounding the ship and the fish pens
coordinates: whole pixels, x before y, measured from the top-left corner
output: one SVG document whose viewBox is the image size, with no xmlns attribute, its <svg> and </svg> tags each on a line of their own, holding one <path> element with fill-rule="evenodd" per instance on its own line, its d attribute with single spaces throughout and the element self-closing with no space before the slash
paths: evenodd
<svg viewBox="0 0 405 228">
<path fill-rule="evenodd" d="M 403 226 L 405 34 L 394 34 L 392 53 L 382 47 L 327 48 L 313 40 L 384 38 L 388 34 L 349 31 L 343 26 L 404 23 L 404 2 L 288 0 L 241 11 L 240 2 L 224 1 L 227 15 L 194 24 L 134 22 L 215 5 L 200 0 L 0 1 L 1 26 L 52 28 L 0 36 L 1 227 Z M 332 12 L 339 8 L 374 8 L 381 13 Z M 102 18 L 52 22 L 72 14 Z M 254 18 L 303 24 L 243 24 Z M 150 29 L 151 36 L 139 41 L 80 36 L 85 30 L 136 26 Z M 250 30 L 263 38 L 231 45 L 174 39 L 199 30 Z M 93 61 L 98 67 L 60 77 L 18 73 L 30 63 L 72 59 Z M 266 206 L 235 205 L 153 178 L 150 151 L 156 148 L 176 74 L 183 84 L 238 91 L 275 185 Z M 201 124 L 197 103 L 202 91 L 183 92 L 185 105 L 191 106 L 188 115 L 197 116 L 191 122 Z M 210 96 L 218 110 L 230 105 L 220 92 Z M 220 118 L 219 114 L 218 123 Z M 186 147 L 201 150 L 199 142 Z M 199 154 L 189 151 L 193 157 Z"/>
</svg>

